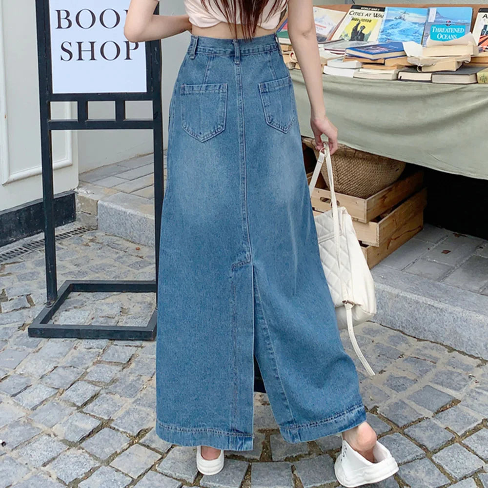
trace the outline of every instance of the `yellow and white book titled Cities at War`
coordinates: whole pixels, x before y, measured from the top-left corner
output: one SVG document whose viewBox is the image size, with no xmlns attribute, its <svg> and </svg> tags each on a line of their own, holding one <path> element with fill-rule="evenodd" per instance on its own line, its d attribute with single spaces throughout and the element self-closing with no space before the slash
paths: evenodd
<svg viewBox="0 0 488 488">
<path fill-rule="evenodd" d="M 385 7 L 351 5 L 332 40 L 376 42 L 385 15 Z"/>
</svg>

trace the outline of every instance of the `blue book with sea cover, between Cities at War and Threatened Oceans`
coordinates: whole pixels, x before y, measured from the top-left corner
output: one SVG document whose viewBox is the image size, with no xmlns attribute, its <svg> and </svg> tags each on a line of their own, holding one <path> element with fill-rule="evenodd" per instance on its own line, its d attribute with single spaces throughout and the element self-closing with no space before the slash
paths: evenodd
<svg viewBox="0 0 488 488">
<path fill-rule="evenodd" d="M 386 7 L 378 42 L 422 42 L 427 22 L 427 8 Z"/>
</svg>

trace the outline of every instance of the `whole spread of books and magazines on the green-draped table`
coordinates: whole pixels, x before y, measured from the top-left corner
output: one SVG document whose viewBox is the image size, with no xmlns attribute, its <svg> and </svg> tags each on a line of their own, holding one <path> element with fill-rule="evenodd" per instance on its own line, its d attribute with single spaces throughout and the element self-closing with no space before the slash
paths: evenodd
<svg viewBox="0 0 488 488">
<path fill-rule="evenodd" d="M 488 8 L 470 32 L 472 7 L 376 7 L 353 4 L 347 13 L 314 8 L 322 71 L 375 80 L 487 82 Z M 277 31 L 287 66 L 300 65 L 287 34 Z M 412 51 L 412 47 L 415 49 Z"/>
</svg>

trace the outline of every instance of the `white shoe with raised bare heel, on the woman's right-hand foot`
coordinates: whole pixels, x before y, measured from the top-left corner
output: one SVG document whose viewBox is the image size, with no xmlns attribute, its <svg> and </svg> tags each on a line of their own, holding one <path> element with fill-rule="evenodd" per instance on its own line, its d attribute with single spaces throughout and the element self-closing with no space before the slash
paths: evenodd
<svg viewBox="0 0 488 488">
<path fill-rule="evenodd" d="M 373 447 L 373 455 L 375 462 L 371 463 L 343 439 L 341 453 L 334 464 L 337 481 L 345 488 L 355 488 L 378 483 L 398 471 L 395 458 L 378 441 Z"/>
</svg>

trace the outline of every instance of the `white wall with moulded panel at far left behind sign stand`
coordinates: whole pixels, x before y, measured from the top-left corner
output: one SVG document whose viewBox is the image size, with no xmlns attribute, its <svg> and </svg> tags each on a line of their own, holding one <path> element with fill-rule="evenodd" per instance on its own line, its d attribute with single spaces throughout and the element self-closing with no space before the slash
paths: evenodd
<svg viewBox="0 0 488 488">
<path fill-rule="evenodd" d="M 42 197 L 34 4 L 0 2 L 0 210 Z M 63 104 L 53 113 L 68 114 L 70 108 Z M 76 136 L 53 134 L 53 148 L 58 193 L 78 184 Z"/>
</svg>

